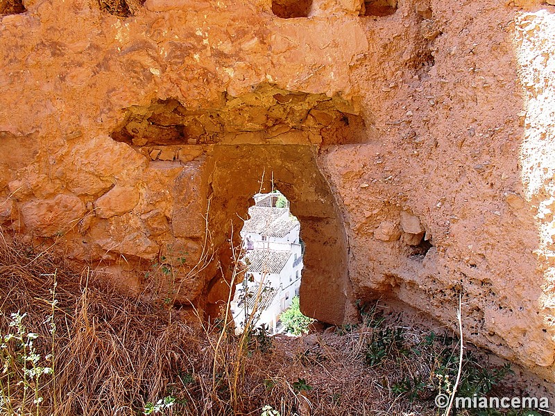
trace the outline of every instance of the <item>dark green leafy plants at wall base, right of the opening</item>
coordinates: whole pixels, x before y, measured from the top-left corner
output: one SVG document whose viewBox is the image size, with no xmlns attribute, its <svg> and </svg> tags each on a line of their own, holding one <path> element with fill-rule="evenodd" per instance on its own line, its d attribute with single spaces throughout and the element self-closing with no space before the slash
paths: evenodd
<svg viewBox="0 0 555 416">
<path fill-rule="evenodd" d="M 379 367 L 384 361 L 407 367 L 418 363 L 418 370 L 409 370 L 391 386 L 392 391 L 409 401 L 430 401 L 441 393 L 451 395 L 457 372 L 459 372 L 459 339 L 448 333 L 438 336 L 430 331 L 417 340 L 409 340 L 403 327 L 384 326 L 382 313 L 377 304 L 360 306 L 363 325 L 369 330 L 362 354 L 371 367 Z M 352 328 L 351 328 L 352 330 Z M 488 394 L 511 373 L 511 366 L 486 367 L 475 354 L 465 349 L 461 378 L 455 397 L 487 397 Z M 456 410 L 453 410 L 456 414 Z M 512 410 L 515 412 L 516 410 Z M 464 414 L 484 415 L 483 409 L 465 409 Z M 495 409 L 488 415 L 501 415 Z"/>
</svg>

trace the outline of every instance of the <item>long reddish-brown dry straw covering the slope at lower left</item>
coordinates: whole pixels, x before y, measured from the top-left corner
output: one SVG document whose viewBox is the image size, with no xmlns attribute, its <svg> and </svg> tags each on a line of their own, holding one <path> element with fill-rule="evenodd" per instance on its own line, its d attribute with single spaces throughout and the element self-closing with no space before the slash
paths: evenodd
<svg viewBox="0 0 555 416">
<path fill-rule="evenodd" d="M 76 275 L 17 239 L 0 239 L 0 299 L 1 333 L 10 331 L 11 313 L 26 313 L 37 352 L 42 360 L 53 357 L 53 376 L 31 385 L 43 399 L 40 415 L 140 415 L 148 402 L 169 396 L 177 404 L 166 414 L 258 414 L 275 403 L 282 415 L 292 414 L 296 396 L 287 381 L 264 385 L 271 353 L 259 352 L 255 341 L 245 347 L 231 325 L 172 318 L 168 306 L 122 295 L 87 270 Z M 17 363 L 8 370 L 12 380 L 22 375 Z M 31 395 L 21 403 L 23 390 L 12 385 L 11 408 L 34 415 Z"/>
</svg>

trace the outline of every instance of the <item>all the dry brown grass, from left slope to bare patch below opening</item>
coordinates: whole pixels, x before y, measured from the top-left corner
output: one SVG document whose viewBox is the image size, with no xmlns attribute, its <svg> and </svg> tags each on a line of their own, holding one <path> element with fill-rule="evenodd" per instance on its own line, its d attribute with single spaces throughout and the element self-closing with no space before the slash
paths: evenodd
<svg viewBox="0 0 555 416">
<path fill-rule="evenodd" d="M 55 272 L 52 345 L 45 317 Z M 230 328 L 188 325 L 167 307 L 121 295 L 86 272 L 75 275 L 59 259 L 17 241 L 0 240 L 0 299 L 1 333 L 8 331 L 10 313 L 26 312 L 27 327 L 39 334 L 38 352 L 53 351 L 55 377 L 39 386 L 40 415 L 141 415 L 146 403 L 170 395 L 179 403 L 164 410 L 169 415 L 258 416 L 265 405 L 282 416 L 435 414 L 391 392 L 388 380 L 406 368 L 364 364 L 357 352 L 364 333 L 281 336 L 263 352 L 264 337 L 241 339 Z M 299 378 L 312 389 L 298 392 L 293 383 Z M 22 389 L 10 396 L 17 405 Z"/>
</svg>

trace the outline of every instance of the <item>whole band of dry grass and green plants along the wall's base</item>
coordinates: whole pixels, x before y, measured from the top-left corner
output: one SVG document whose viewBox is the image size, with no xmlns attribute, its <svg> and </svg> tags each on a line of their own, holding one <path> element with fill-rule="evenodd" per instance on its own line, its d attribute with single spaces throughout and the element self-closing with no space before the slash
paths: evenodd
<svg viewBox="0 0 555 416">
<path fill-rule="evenodd" d="M 456 337 L 386 324 L 377 308 L 336 333 L 241 338 L 2 239 L 0 299 L 0 415 L 432 416 L 456 362 Z M 508 371 L 465 361 L 467 394 Z"/>
</svg>

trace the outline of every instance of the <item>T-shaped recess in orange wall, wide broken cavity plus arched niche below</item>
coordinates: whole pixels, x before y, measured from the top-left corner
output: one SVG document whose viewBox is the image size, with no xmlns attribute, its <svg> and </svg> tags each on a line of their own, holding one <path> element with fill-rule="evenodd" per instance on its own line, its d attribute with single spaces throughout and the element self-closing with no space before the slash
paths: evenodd
<svg viewBox="0 0 555 416">
<path fill-rule="evenodd" d="M 227 304 L 234 250 L 241 246 L 241 218 L 248 214 L 249 201 L 255 193 L 277 188 L 291 202 L 307 248 L 300 311 L 331 324 L 358 319 L 343 219 L 318 165 L 330 147 L 368 140 L 364 120 L 352 103 L 339 96 L 261 85 L 217 109 L 189 109 L 170 98 L 130 107 L 126 113 L 112 139 L 144 155 L 151 168 L 184 169 L 172 191 L 172 236 L 200 239 L 206 225 L 210 230 L 214 257 L 203 268 L 196 297 L 205 317 L 221 317 Z M 207 201 L 208 224 L 199 214 L 207 212 Z"/>
</svg>

